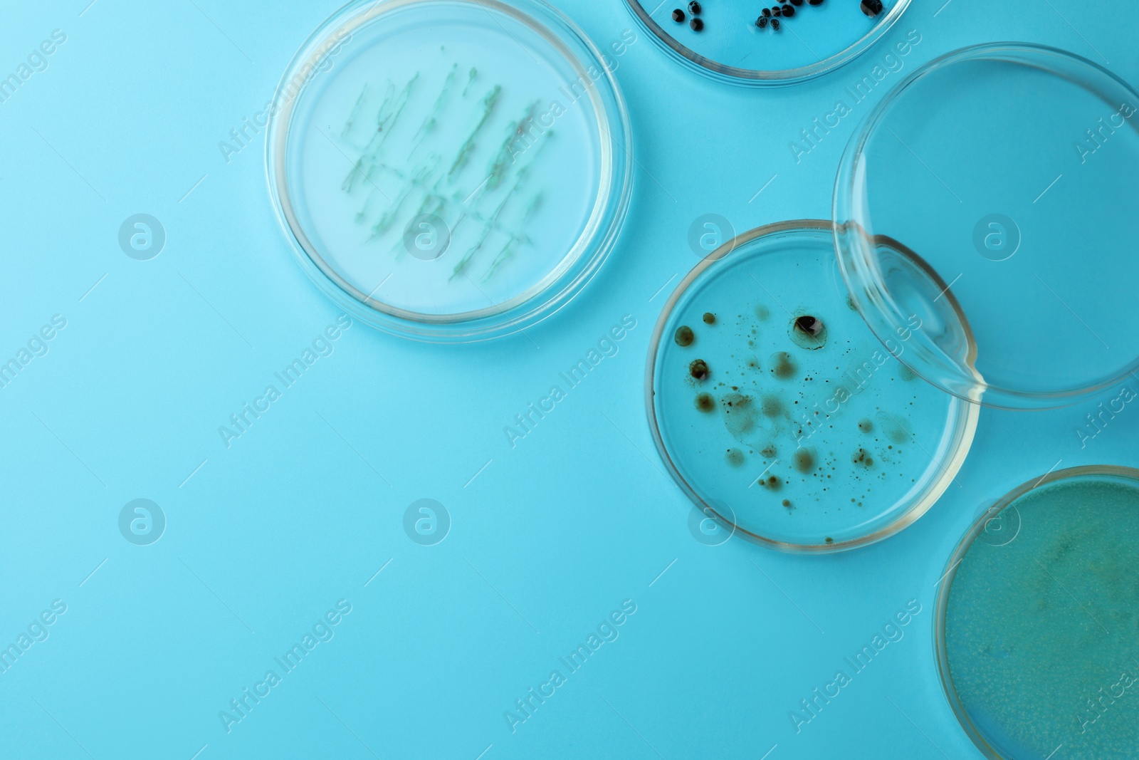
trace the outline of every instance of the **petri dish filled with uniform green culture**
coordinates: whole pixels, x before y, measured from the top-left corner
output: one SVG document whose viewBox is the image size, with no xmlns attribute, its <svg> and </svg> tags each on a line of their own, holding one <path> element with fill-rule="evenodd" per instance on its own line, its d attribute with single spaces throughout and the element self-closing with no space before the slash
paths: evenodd
<svg viewBox="0 0 1139 760">
<path fill-rule="evenodd" d="M 936 656 L 985 757 L 1134 757 L 1137 567 L 1139 469 L 1129 467 L 1029 481 L 966 533 L 939 590 Z"/>
</svg>

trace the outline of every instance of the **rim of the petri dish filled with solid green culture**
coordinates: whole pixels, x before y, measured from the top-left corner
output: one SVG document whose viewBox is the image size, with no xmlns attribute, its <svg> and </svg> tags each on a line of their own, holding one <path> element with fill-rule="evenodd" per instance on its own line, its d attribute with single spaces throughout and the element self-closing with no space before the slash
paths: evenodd
<svg viewBox="0 0 1139 760">
<path fill-rule="evenodd" d="M 968 550 L 973 547 L 977 536 L 984 531 L 985 523 L 988 523 L 992 516 L 1000 514 L 1010 504 L 1031 491 L 1056 483 L 1057 481 L 1085 477 L 1088 475 L 1125 477 L 1134 481 L 1136 485 L 1139 487 L 1139 469 L 1134 467 L 1125 467 L 1123 465 L 1081 465 L 1079 467 L 1066 467 L 1064 469 L 1046 473 L 1042 477 L 1025 481 L 981 513 L 981 515 L 965 531 L 965 534 L 957 542 L 953 553 L 945 563 L 945 572 L 942 574 L 941 586 L 937 588 L 937 600 L 935 603 L 933 619 L 933 646 L 934 661 L 937 665 L 937 678 L 941 680 L 942 692 L 949 702 L 950 709 L 953 711 L 953 716 L 961 725 L 961 729 L 976 745 L 977 750 L 980 750 L 981 753 L 990 760 L 1011 759 L 1006 758 L 1006 755 L 1001 754 L 995 747 L 989 744 L 981 730 L 973 724 L 973 720 L 969 719 L 968 713 L 961 705 L 961 700 L 957 695 L 957 688 L 953 686 L 953 677 L 949 671 L 949 653 L 945 648 L 945 615 L 949 610 L 949 593 L 953 586 L 953 578 L 957 575 L 957 567 L 960 565 L 961 559 L 965 558 Z"/>
</svg>

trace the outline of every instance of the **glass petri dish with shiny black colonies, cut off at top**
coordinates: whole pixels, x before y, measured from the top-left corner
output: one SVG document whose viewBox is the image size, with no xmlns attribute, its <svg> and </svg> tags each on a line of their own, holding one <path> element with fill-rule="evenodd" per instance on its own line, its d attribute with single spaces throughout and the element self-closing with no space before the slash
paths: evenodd
<svg viewBox="0 0 1139 760">
<path fill-rule="evenodd" d="M 753 87 L 794 84 L 850 63 L 885 34 L 909 3 L 788 0 L 771 2 L 765 9 L 771 14 L 780 8 L 780 17 L 764 17 L 760 6 L 744 9 L 707 2 L 694 15 L 687 0 L 661 5 L 625 0 L 633 17 L 675 60 L 711 79 Z M 792 16 L 782 15 L 786 8 Z M 674 21 L 677 10 L 682 21 Z M 691 27 L 694 18 L 699 19 L 698 31 Z M 899 42 L 900 50 L 908 52 L 910 43 L 916 44 Z"/>
</svg>

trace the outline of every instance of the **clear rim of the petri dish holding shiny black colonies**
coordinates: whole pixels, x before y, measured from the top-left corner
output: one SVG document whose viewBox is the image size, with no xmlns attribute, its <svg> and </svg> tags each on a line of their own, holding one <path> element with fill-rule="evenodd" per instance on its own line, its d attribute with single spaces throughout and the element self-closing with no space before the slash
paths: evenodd
<svg viewBox="0 0 1139 760">
<path fill-rule="evenodd" d="M 909 5 L 910 0 L 898 0 L 894 7 L 886 11 L 886 15 L 874 26 L 874 28 L 867 32 L 853 44 L 839 50 L 833 56 L 808 66 L 763 71 L 728 66 L 702 56 L 688 46 L 678 42 L 675 38 L 664 30 L 663 26 L 653 21 L 653 17 L 649 16 L 644 6 L 641 6 L 640 0 L 625 0 L 625 6 L 629 8 L 629 13 L 632 14 L 640 25 L 649 32 L 657 46 L 665 52 L 671 54 L 675 59 L 683 64 L 686 68 L 704 74 L 705 76 L 710 76 L 719 82 L 727 82 L 744 87 L 784 87 L 787 84 L 796 84 L 798 82 L 805 82 L 814 79 L 816 76 L 821 76 L 822 74 L 836 68 L 841 68 L 866 52 L 886 32 L 888 32 L 898 19 L 901 18 Z"/>
</svg>

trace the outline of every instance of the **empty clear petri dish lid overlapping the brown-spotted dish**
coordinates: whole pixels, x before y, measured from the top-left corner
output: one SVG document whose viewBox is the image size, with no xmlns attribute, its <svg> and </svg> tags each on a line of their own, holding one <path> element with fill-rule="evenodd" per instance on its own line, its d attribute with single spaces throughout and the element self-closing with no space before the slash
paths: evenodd
<svg viewBox="0 0 1139 760">
<path fill-rule="evenodd" d="M 835 187 L 839 268 L 870 329 L 911 334 L 903 363 L 993 407 L 1065 406 L 1133 373 L 1137 109 L 1125 82 L 1052 48 L 984 44 L 915 71 Z"/>
</svg>

